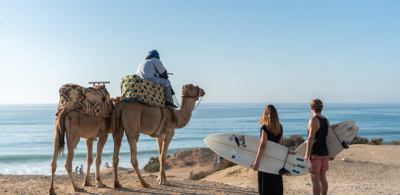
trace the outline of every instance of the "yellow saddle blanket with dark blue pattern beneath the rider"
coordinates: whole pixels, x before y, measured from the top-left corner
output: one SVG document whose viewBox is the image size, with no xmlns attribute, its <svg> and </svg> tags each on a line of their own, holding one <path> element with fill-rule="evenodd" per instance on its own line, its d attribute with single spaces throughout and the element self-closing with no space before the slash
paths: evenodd
<svg viewBox="0 0 400 195">
<path fill-rule="evenodd" d="M 139 101 L 155 107 L 165 107 L 164 87 L 140 78 L 136 74 L 121 79 L 121 102 Z"/>
</svg>

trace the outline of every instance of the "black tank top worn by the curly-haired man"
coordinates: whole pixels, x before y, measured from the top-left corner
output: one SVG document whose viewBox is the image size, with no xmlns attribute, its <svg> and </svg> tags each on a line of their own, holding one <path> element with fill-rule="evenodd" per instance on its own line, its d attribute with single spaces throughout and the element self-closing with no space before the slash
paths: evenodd
<svg viewBox="0 0 400 195">
<path fill-rule="evenodd" d="M 312 145 L 310 155 L 327 156 L 326 135 L 328 135 L 328 121 L 326 118 L 316 116 L 320 121 L 320 129 L 315 133 L 314 144 Z M 308 131 L 308 134 L 310 131 Z"/>
</svg>

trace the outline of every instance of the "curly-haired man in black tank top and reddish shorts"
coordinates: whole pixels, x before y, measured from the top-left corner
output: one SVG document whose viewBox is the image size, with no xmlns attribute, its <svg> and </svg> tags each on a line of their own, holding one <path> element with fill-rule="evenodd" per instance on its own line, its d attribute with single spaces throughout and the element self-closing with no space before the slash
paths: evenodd
<svg viewBox="0 0 400 195">
<path fill-rule="evenodd" d="M 334 157 L 328 157 L 326 148 L 326 135 L 330 126 L 328 119 L 321 115 L 322 101 L 314 99 L 310 103 L 313 117 L 308 121 L 308 141 L 305 158 L 311 164 L 312 193 L 314 195 L 326 195 L 328 193 L 328 181 L 326 181 L 326 171 L 328 171 L 328 161 Z"/>
</svg>

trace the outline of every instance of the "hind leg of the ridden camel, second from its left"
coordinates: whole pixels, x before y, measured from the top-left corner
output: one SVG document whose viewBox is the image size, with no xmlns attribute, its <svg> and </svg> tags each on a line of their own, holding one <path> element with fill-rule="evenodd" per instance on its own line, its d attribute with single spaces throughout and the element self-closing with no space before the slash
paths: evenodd
<svg viewBox="0 0 400 195">
<path fill-rule="evenodd" d="M 136 171 L 136 174 L 138 175 L 141 186 L 142 187 L 150 187 L 150 185 L 148 183 L 146 183 L 146 181 L 144 181 L 142 174 L 140 173 L 138 159 L 136 158 L 136 156 L 138 154 L 138 147 L 137 147 L 136 143 L 139 140 L 139 135 L 140 135 L 139 132 L 140 131 L 137 131 L 137 134 L 134 136 L 129 135 L 129 134 L 131 134 L 130 132 L 126 132 L 126 138 L 128 139 L 128 143 L 129 143 L 129 147 L 130 147 L 130 163 L 132 164 L 133 168 Z"/>
</svg>

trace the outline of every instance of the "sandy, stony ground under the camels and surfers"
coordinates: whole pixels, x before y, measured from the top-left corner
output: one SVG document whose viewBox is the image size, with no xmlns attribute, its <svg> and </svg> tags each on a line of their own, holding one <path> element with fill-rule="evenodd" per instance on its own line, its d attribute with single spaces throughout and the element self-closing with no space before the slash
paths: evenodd
<svg viewBox="0 0 400 195">
<path fill-rule="evenodd" d="M 215 154 L 209 149 L 180 151 L 167 160 L 168 186 L 158 185 L 158 173 L 143 173 L 150 188 L 140 187 L 133 168 L 120 168 L 122 188 L 112 188 L 112 168 L 101 170 L 101 179 L 106 188 L 84 187 L 74 192 L 68 175 L 56 175 L 56 193 L 62 194 L 117 194 L 117 195 L 252 195 L 258 194 L 257 173 L 240 165 L 218 171 L 201 181 L 188 180 L 191 171 L 208 171 L 213 167 Z M 350 145 L 336 159 L 330 161 L 327 172 L 328 194 L 332 195 L 400 195 L 400 146 Z M 63 167 L 62 167 L 63 168 Z M 94 174 L 91 174 L 94 184 Z M 84 175 L 74 175 L 77 183 L 83 183 Z M 312 194 L 310 175 L 284 176 L 284 194 Z M 18 195 L 47 194 L 50 177 L 46 175 L 1 175 L 0 193 Z"/>
</svg>

